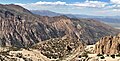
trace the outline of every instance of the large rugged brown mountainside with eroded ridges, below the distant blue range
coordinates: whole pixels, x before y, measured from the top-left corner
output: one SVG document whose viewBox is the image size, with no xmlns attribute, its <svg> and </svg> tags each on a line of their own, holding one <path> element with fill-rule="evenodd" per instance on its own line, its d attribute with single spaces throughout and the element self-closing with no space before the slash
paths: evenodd
<svg viewBox="0 0 120 61">
<path fill-rule="evenodd" d="M 18 5 L 0 5 L 0 46 L 30 47 L 64 36 L 93 44 L 116 33 L 116 29 L 92 19 L 38 16 Z"/>
</svg>

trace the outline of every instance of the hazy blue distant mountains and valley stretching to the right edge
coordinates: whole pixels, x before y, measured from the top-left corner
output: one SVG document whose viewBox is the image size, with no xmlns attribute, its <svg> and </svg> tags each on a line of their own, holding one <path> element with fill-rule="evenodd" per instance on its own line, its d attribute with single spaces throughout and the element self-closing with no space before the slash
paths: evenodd
<svg viewBox="0 0 120 61">
<path fill-rule="evenodd" d="M 42 16 L 60 16 L 60 15 L 65 15 L 70 18 L 87 18 L 87 19 L 95 19 L 98 21 L 102 21 L 106 24 L 109 24 L 110 26 L 113 26 L 115 28 L 120 28 L 120 16 L 91 16 L 91 15 L 80 15 L 80 14 L 60 14 L 60 13 L 55 13 L 52 11 L 48 10 L 31 10 L 32 13 L 37 14 L 37 15 L 42 15 Z"/>
</svg>

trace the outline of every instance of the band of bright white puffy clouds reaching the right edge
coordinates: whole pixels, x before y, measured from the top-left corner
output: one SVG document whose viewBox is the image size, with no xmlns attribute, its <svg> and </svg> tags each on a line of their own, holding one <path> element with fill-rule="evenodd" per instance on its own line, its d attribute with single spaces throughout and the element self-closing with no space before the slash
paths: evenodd
<svg viewBox="0 0 120 61">
<path fill-rule="evenodd" d="M 115 4 L 117 3 L 117 4 Z M 22 3 L 16 3 L 17 5 L 21 5 L 23 7 L 41 7 L 41 6 L 74 6 L 74 7 L 88 7 L 88 8 L 105 8 L 105 9 L 120 9 L 120 0 L 111 0 L 111 3 L 108 2 L 101 2 L 101 1 L 89 1 L 86 0 L 85 2 L 75 2 L 75 3 L 66 3 L 66 2 L 61 2 L 61 1 L 56 1 L 56 2 L 46 2 L 46 1 L 39 1 L 36 3 L 27 3 L 27 4 L 22 4 Z M 56 6 L 56 8 L 57 8 Z"/>
</svg>

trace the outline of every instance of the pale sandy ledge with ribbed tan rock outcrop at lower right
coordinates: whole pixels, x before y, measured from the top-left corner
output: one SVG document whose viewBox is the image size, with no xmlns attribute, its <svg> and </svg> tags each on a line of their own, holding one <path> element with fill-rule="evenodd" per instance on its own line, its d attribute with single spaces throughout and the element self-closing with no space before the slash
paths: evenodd
<svg viewBox="0 0 120 61">
<path fill-rule="evenodd" d="M 87 45 L 75 61 L 120 61 L 120 34 L 105 36 L 94 45 Z"/>
</svg>

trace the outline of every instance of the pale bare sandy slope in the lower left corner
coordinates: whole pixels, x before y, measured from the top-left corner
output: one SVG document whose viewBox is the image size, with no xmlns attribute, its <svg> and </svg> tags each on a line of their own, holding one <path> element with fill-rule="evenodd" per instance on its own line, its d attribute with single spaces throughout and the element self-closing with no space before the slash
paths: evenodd
<svg viewBox="0 0 120 61">
<path fill-rule="evenodd" d="M 18 49 L 12 47 L 1 48 L 0 61 L 50 61 L 38 50 Z"/>
</svg>

